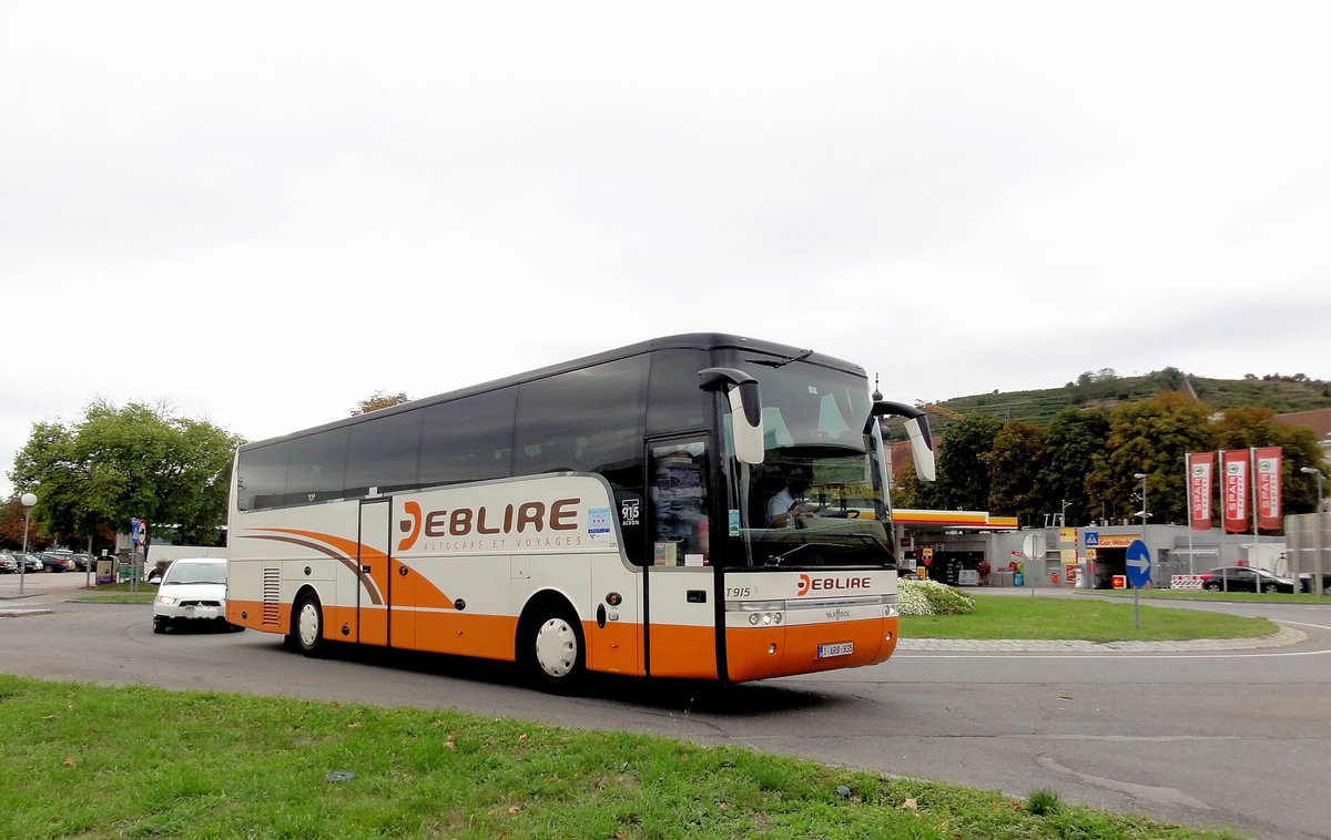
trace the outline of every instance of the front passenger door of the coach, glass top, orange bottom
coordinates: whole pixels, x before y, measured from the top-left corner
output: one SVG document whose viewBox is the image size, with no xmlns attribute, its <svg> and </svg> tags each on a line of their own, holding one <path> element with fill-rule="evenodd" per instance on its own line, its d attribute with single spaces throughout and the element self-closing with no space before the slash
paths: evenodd
<svg viewBox="0 0 1331 840">
<path fill-rule="evenodd" d="M 648 447 L 647 669 L 716 679 L 716 576 L 709 565 L 708 460 L 703 437 Z"/>
</svg>

